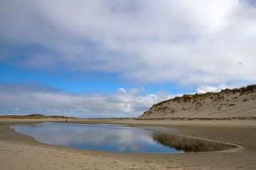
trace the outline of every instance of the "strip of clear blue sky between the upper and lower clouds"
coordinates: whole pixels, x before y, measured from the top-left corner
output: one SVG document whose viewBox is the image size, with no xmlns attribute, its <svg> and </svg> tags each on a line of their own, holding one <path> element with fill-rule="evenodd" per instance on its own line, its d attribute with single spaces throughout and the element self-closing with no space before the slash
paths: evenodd
<svg viewBox="0 0 256 170">
<path fill-rule="evenodd" d="M 24 69 L 8 64 L 0 64 L 1 81 L 23 84 L 41 84 L 64 92 L 93 94 L 114 93 L 120 87 L 124 89 L 143 88 L 142 94 L 155 94 L 157 91 L 172 92 L 174 94 L 193 93 L 194 87 L 180 86 L 174 82 L 155 84 L 136 84 L 131 81 L 119 79 L 117 74 L 93 72 L 80 74 L 74 72 L 53 73 L 37 69 Z"/>
</svg>

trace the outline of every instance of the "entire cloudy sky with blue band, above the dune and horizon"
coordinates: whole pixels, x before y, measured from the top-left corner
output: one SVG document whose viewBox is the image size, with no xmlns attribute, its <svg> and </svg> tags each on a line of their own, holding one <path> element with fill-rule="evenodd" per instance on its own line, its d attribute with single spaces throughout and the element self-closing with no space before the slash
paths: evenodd
<svg viewBox="0 0 256 170">
<path fill-rule="evenodd" d="M 136 117 L 256 83 L 255 0 L 1 0 L 0 115 Z"/>
</svg>

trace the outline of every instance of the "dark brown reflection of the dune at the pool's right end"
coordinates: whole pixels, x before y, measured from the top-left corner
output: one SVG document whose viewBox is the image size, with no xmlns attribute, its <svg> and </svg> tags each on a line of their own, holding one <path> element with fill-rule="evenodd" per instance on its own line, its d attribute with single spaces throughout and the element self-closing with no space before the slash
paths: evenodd
<svg viewBox="0 0 256 170">
<path fill-rule="evenodd" d="M 178 135 L 154 134 L 154 141 L 161 145 L 174 147 L 184 152 L 213 152 L 225 149 L 232 149 L 235 146 L 223 144 L 220 142 L 211 142 L 206 140 L 198 140 L 191 137 L 183 137 Z"/>
</svg>

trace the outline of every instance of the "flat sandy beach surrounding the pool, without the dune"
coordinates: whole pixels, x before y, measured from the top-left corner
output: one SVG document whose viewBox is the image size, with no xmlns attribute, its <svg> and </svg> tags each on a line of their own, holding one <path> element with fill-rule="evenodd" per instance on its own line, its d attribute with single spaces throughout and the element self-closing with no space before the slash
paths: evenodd
<svg viewBox="0 0 256 170">
<path fill-rule="evenodd" d="M 70 149 L 36 142 L 9 128 L 13 123 L 49 120 L 0 120 L 0 169 L 256 169 L 255 120 L 69 120 L 140 126 L 167 133 L 230 142 L 233 152 L 127 154 Z M 59 120 L 61 121 L 61 120 Z M 64 121 L 64 120 L 63 120 Z"/>
</svg>

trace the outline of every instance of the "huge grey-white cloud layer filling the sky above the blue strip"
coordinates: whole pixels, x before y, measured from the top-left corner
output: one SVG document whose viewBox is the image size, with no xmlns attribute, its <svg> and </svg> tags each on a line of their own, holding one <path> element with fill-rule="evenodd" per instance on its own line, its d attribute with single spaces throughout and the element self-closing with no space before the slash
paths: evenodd
<svg viewBox="0 0 256 170">
<path fill-rule="evenodd" d="M 249 0 L 2 0 L 0 61 L 141 83 L 255 82 L 255 20 Z"/>
</svg>

